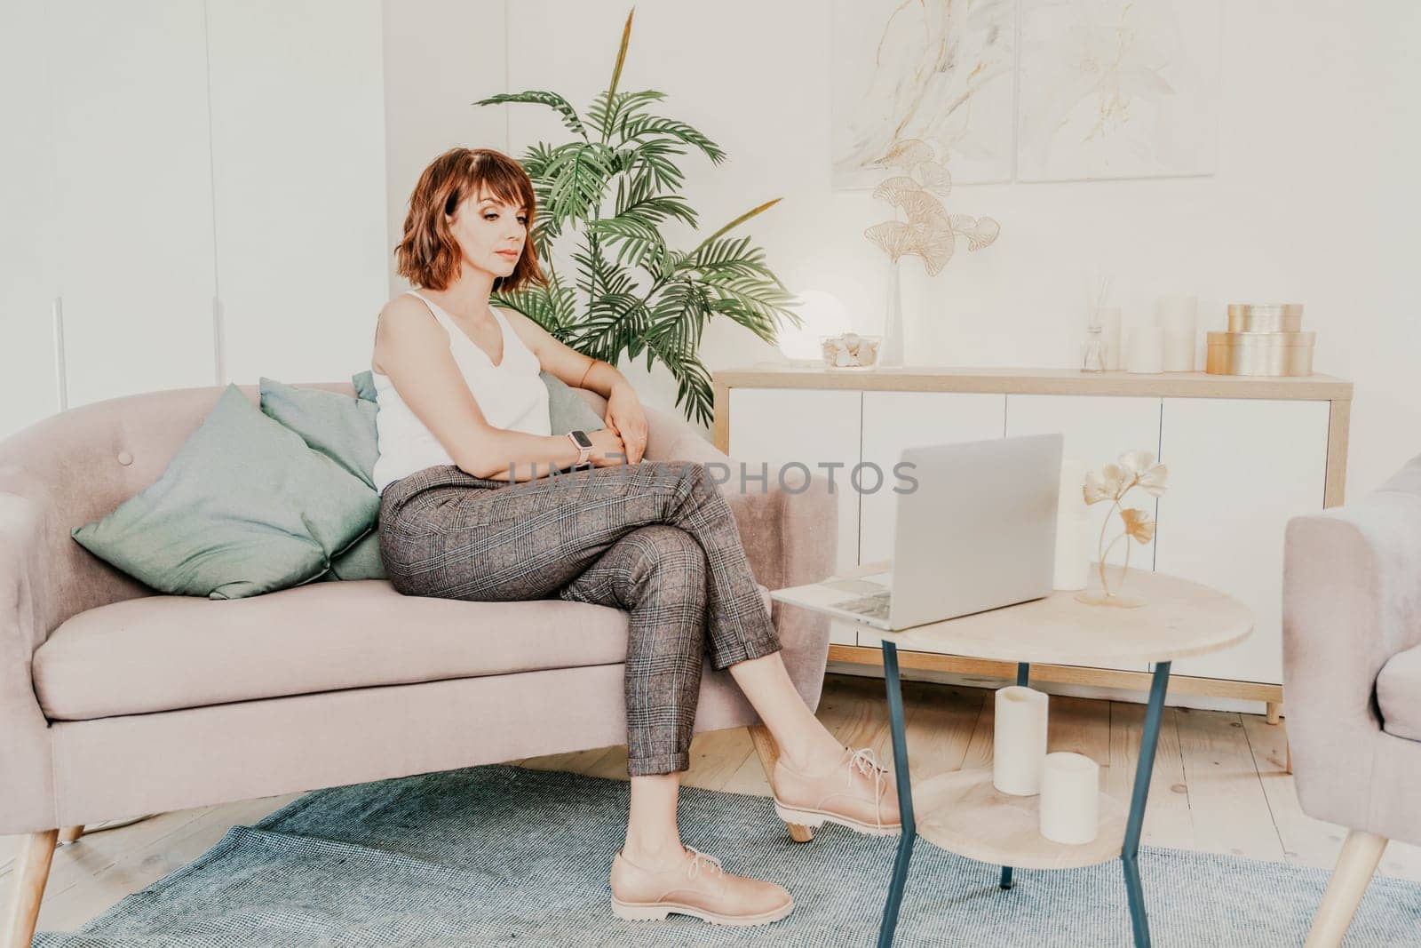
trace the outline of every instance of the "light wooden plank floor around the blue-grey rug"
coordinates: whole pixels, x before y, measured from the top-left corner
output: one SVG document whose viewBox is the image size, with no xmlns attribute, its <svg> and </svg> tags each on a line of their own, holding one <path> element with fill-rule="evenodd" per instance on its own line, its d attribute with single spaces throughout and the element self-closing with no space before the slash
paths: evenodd
<svg viewBox="0 0 1421 948">
<path fill-rule="evenodd" d="M 992 692 L 904 682 L 912 776 L 925 779 L 992 762 Z M 820 719 L 853 748 L 891 760 L 882 679 L 828 675 Z M 1050 749 L 1101 763 L 1108 793 L 1130 802 L 1144 706 L 1052 698 Z M 1286 726 L 1260 716 L 1167 708 L 1150 787 L 1144 843 L 1233 853 L 1331 868 L 1346 831 L 1303 814 L 1283 772 Z M 627 749 L 601 748 L 513 760 L 527 767 L 627 779 Z M 890 765 L 891 766 L 891 765 Z M 769 796 L 770 787 L 745 728 L 696 735 L 686 786 Z M 252 823 L 300 795 L 163 813 L 61 847 L 45 893 L 41 928 L 72 930 L 124 895 L 190 861 L 227 827 Z M 766 807 L 766 819 L 773 813 Z M 9 893 L 16 837 L 0 837 L 0 891 Z M 1393 843 L 1378 870 L 1421 881 L 1421 849 Z"/>
</svg>

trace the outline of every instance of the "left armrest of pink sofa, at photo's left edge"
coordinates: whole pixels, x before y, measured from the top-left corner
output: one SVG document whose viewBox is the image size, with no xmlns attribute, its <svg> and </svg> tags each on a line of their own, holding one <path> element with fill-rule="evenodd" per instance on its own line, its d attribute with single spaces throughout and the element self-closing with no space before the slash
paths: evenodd
<svg viewBox="0 0 1421 948">
<path fill-rule="evenodd" d="M 50 733 L 34 696 L 34 651 L 53 601 L 44 510 L 0 493 L 0 834 L 55 827 Z"/>
</svg>

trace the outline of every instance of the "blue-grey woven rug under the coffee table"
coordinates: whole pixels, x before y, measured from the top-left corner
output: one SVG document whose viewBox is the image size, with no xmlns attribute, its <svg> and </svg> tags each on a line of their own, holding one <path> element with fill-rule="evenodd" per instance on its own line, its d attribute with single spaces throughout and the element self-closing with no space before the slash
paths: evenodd
<svg viewBox="0 0 1421 948">
<path fill-rule="evenodd" d="M 772 878 L 794 911 L 760 928 L 671 915 L 624 922 L 607 874 L 625 834 L 628 785 L 485 766 L 317 790 L 72 935 L 44 948 L 139 945 L 871 945 L 895 839 L 826 826 L 789 839 L 770 800 L 686 787 L 682 840 L 726 870 Z M 1327 873 L 1144 850 L 1154 944 L 1302 945 Z M 1128 945 L 1120 863 L 996 868 L 918 840 L 898 945 Z M 1421 885 L 1376 878 L 1349 947 L 1421 944 Z"/>
</svg>

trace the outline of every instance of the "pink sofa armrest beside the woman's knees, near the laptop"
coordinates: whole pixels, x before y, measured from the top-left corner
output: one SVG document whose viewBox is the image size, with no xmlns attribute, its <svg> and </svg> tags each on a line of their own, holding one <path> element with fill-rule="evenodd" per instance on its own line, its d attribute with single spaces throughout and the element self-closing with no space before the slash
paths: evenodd
<svg viewBox="0 0 1421 948">
<path fill-rule="evenodd" d="M 716 449 L 689 424 L 669 412 L 647 409 L 647 460 L 695 460 L 720 480 L 720 493 L 735 516 L 740 543 L 756 581 L 769 590 L 817 583 L 833 576 L 838 550 L 838 500 L 828 479 L 787 476 L 779 483 L 773 466 L 759 479 L 759 463 L 747 465 Z M 801 489 L 803 485 L 803 489 Z M 780 642 L 793 651 L 790 678 L 811 711 L 818 708 L 828 661 L 828 617 L 774 603 L 770 611 Z"/>
</svg>

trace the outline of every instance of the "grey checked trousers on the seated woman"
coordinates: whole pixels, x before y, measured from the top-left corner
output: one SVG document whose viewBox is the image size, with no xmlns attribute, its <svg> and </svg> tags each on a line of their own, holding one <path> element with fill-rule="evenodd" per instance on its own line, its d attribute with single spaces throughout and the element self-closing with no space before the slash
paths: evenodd
<svg viewBox="0 0 1421 948">
<path fill-rule="evenodd" d="M 691 767 L 706 652 L 720 669 L 780 648 L 730 509 L 691 460 L 523 482 L 425 468 L 381 495 L 379 551 L 405 596 L 627 610 L 631 776 Z"/>
</svg>

